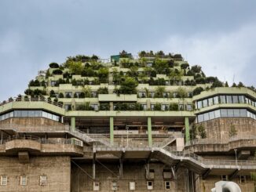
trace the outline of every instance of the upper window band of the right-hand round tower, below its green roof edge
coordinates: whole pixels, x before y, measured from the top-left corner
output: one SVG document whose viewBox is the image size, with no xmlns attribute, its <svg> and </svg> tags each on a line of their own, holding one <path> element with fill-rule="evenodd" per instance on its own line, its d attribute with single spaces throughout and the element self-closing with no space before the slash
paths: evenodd
<svg viewBox="0 0 256 192">
<path fill-rule="evenodd" d="M 247 98 L 246 96 L 214 96 L 205 100 L 198 100 L 196 102 L 197 109 L 203 107 L 210 107 L 218 103 L 247 103 L 256 107 L 256 101 Z"/>
</svg>

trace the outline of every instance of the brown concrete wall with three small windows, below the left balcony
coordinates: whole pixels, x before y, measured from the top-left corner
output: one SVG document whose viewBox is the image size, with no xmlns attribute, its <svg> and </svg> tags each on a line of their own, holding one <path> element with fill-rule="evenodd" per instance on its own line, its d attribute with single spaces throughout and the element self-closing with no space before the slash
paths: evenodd
<svg viewBox="0 0 256 192">
<path fill-rule="evenodd" d="M 0 191 L 53 191 L 69 192 L 71 178 L 70 158 L 67 156 L 31 157 L 28 164 L 20 164 L 17 157 L 0 158 L 0 176 L 7 176 L 6 186 Z M 46 185 L 40 186 L 39 177 L 47 177 Z M 27 185 L 20 185 L 20 176 L 27 176 Z"/>
</svg>

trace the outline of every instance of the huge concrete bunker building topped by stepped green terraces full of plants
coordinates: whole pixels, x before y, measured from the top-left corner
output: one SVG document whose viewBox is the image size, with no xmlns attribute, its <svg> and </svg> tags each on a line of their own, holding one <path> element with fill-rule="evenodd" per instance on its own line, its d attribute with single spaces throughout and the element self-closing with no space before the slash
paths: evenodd
<svg viewBox="0 0 256 192">
<path fill-rule="evenodd" d="M 254 191 L 256 92 L 181 55 L 50 63 L 0 106 L 0 191 Z"/>
</svg>

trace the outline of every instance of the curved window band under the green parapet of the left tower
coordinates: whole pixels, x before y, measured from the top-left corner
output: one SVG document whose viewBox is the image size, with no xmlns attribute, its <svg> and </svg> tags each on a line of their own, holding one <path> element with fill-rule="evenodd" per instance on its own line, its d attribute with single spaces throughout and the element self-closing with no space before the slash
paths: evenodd
<svg viewBox="0 0 256 192">
<path fill-rule="evenodd" d="M 0 115 L 0 121 L 6 118 L 49 118 L 53 121 L 60 121 L 60 116 L 55 114 L 50 114 L 43 110 L 13 110 L 9 113 Z"/>
</svg>

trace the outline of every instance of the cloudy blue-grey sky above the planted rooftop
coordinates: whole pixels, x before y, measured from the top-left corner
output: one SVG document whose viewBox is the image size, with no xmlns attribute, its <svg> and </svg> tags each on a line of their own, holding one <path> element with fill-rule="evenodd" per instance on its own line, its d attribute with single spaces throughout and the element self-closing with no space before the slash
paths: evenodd
<svg viewBox="0 0 256 192">
<path fill-rule="evenodd" d="M 255 10 L 255 0 L 1 0 L 0 101 L 53 61 L 123 49 L 181 53 L 207 76 L 256 86 Z"/>
</svg>

